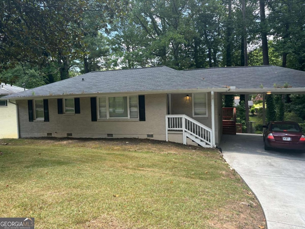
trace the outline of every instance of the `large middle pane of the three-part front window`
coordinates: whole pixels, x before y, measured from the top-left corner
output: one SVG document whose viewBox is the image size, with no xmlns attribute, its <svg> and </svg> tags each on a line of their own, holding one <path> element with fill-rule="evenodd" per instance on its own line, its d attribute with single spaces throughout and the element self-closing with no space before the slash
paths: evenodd
<svg viewBox="0 0 305 229">
<path fill-rule="evenodd" d="M 109 118 L 127 118 L 127 96 L 109 97 Z"/>
</svg>

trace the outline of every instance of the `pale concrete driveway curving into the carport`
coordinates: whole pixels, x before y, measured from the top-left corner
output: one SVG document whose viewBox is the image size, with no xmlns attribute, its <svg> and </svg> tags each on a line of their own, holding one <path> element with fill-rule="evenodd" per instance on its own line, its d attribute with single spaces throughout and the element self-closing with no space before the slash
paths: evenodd
<svg viewBox="0 0 305 229">
<path fill-rule="evenodd" d="M 305 228 L 305 154 L 265 151 L 257 134 L 223 135 L 220 147 L 257 196 L 268 229 Z"/>
</svg>

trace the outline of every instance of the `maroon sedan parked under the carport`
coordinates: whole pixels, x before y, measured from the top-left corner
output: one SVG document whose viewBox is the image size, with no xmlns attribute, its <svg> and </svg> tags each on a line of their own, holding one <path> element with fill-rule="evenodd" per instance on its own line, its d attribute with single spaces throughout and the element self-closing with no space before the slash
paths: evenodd
<svg viewBox="0 0 305 229">
<path fill-rule="evenodd" d="M 265 150 L 271 148 L 304 150 L 305 136 L 296 122 L 269 122 L 263 125 Z M 303 151 L 304 152 L 304 151 Z"/>
</svg>

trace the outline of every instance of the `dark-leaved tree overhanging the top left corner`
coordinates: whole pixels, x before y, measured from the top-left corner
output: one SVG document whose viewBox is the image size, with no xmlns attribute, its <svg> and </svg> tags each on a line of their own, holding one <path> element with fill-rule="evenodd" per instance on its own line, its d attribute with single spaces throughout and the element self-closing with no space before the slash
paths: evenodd
<svg viewBox="0 0 305 229">
<path fill-rule="evenodd" d="M 68 78 L 71 61 L 83 56 L 83 38 L 106 30 L 123 8 L 118 0 L 2 1 L 0 68 L 57 63 L 60 78 Z"/>
</svg>

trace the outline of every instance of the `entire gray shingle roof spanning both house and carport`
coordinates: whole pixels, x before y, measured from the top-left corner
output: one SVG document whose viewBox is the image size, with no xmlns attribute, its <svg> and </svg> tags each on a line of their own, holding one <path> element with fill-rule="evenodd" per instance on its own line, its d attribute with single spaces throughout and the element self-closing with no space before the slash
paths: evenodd
<svg viewBox="0 0 305 229">
<path fill-rule="evenodd" d="M 293 88 L 305 88 L 305 72 L 271 65 L 185 71 L 159 66 L 90 72 L 6 97 L 215 89 L 227 86 L 259 89 L 261 85 L 274 88 L 274 84 L 283 86 L 286 82 Z"/>
</svg>

